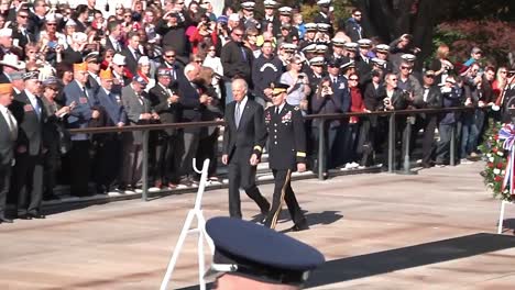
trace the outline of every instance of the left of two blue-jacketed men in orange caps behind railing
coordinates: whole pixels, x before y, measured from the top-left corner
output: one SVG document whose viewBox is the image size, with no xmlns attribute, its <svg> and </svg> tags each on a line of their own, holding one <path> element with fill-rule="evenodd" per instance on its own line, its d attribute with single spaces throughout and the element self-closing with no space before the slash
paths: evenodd
<svg viewBox="0 0 515 290">
<path fill-rule="evenodd" d="M 75 103 L 75 109 L 67 119 L 68 127 L 80 129 L 96 126 L 94 122 L 100 119 L 98 100 L 91 90 L 86 88 L 88 80 L 87 64 L 74 64 L 75 81 L 66 85 L 63 98 L 66 105 Z M 70 166 L 70 191 L 77 197 L 89 196 L 88 180 L 90 175 L 89 135 L 72 135 L 72 149 L 69 152 Z M 80 166 L 77 166 L 80 165 Z"/>
</svg>

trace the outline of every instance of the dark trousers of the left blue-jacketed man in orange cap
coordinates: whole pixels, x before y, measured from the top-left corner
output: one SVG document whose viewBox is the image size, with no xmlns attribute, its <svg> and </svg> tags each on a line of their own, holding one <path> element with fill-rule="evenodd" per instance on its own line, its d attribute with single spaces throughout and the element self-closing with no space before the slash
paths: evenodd
<svg viewBox="0 0 515 290">
<path fill-rule="evenodd" d="M 76 197 L 88 196 L 90 177 L 89 141 L 73 141 L 69 150 L 70 193 Z"/>
</svg>

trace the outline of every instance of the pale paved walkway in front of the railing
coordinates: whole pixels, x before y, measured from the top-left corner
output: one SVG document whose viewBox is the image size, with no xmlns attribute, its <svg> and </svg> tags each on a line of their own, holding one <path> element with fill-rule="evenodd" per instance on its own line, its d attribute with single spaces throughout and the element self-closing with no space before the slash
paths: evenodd
<svg viewBox="0 0 515 290">
<path fill-rule="evenodd" d="M 500 202 L 485 191 L 481 167 L 295 181 L 311 230 L 288 234 L 329 260 L 309 286 L 514 289 L 513 228 L 493 235 Z M 272 185 L 261 189 L 270 197 Z M 0 289 L 158 289 L 194 199 L 120 201 L 1 224 Z M 227 190 L 206 192 L 204 208 L 207 217 L 227 214 Z M 246 198 L 242 208 L 245 219 L 259 212 Z M 284 217 L 278 231 L 292 226 Z M 197 283 L 195 245 L 187 241 L 169 289 Z"/>
</svg>

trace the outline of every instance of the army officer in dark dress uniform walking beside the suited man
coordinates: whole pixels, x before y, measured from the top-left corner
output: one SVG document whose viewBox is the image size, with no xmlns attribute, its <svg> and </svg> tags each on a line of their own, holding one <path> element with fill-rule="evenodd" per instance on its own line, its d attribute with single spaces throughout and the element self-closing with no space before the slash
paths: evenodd
<svg viewBox="0 0 515 290">
<path fill-rule="evenodd" d="M 272 208 L 265 225 L 275 228 L 284 200 L 295 223 L 292 230 L 303 231 L 309 227 L 292 189 L 291 176 L 295 170 L 306 170 L 306 134 L 300 109 L 286 103 L 288 87 L 280 82 L 271 83 L 274 105 L 265 111 L 270 169 L 275 179 Z"/>
</svg>

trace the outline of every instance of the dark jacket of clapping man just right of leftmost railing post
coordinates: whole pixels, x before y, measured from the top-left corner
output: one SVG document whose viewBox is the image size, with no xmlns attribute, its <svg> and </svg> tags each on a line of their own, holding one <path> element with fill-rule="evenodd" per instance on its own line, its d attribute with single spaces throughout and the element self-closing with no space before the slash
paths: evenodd
<svg viewBox="0 0 515 290">
<path fill-rule="evenodd" d="M 160 121 L 163 124 L 178 123 L 180 121 L 180 103 L 168 103 L 169 93 L 161 85 L 155 85 L 149 91 L 149 100 L 152 110 L 160 114 Z M 175 129 L 166 129 L 164 132 L 172 136 L 176 133 Z"/>
</svg>

